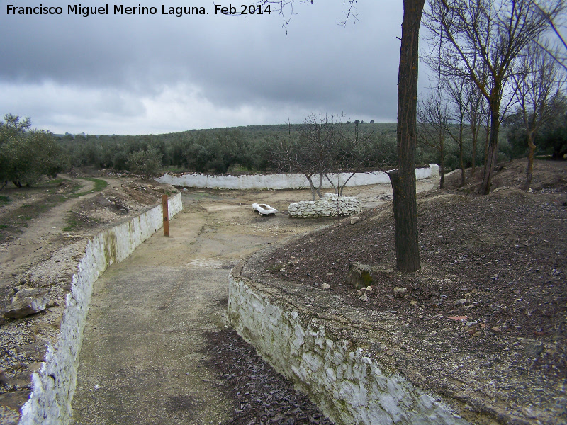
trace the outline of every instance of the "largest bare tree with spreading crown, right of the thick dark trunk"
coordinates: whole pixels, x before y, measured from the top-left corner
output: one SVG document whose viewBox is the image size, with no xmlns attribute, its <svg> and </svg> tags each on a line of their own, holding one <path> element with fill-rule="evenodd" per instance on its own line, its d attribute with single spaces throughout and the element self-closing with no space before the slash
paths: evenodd
<svg viewBox="0 0 567 425">
<path fill-rule="evenodd" d="M 490 139 L 481 193 L 490 192 L 503 99 L 518 56 L 551 28 L 549 20 L 561 11 L 563 0 L 549 0 L 543 6 L 535 6 L 533 0 L 430 0 L 425 26 L 432 41 L 446 50 L 440 55 L 443 73 L 470 79 L 488 102 Z"/>
</svg>

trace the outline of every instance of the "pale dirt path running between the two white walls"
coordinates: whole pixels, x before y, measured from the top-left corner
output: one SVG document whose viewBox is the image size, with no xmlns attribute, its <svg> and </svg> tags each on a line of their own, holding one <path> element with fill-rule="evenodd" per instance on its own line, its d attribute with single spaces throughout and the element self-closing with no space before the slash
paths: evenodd
<svg viewBox="0 0 567 425">
<path fill-rule="evenodd" d="M 423 185 L 433 186 L 434 182 Z M 388 185 L 389 186 L 389 185 Z M 391 189 L 352 188 L 368 202 Z M 264 245 L 336 219 L 260 217 L 308 191 L 184 191 L 184 211 L 97 280 L 74 396 L 75 424 L 220 424 L 235 397 L 211 368 L 207 332 L 227 327 L 228 273 Z M 218 348 L 220 349 L 220 348 Z"/>
</svg>

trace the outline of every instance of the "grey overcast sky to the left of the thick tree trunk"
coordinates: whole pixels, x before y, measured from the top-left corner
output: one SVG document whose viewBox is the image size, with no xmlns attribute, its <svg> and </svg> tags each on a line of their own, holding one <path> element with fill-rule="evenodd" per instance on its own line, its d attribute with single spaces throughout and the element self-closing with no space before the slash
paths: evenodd
<svg viewBox="0 0 567 425">
<path fill-rule="evenodd" d="M 63 13 L 8 13 L 8 5 L 40 4 Z M 215 15 L 208 0 L 110 0 L 108 15 L 86 18 L 69 15 L 69 5 L 79 3 L 68 0 L 0 5 L 0 114 L 28 116 L 35 128 L 145 135 L 301 123 L 310 113 L 396 119 L 401 0 L 360 0 L 358 21 L 346 27 L 338 24 L 342 0 L 296 1 L 286 28 L 274 9 Z M 119 15 L 115 5 L 157 13 Z M 184 5 L 208 14 L 162 14 L 162 6 Z"/>
</svg>

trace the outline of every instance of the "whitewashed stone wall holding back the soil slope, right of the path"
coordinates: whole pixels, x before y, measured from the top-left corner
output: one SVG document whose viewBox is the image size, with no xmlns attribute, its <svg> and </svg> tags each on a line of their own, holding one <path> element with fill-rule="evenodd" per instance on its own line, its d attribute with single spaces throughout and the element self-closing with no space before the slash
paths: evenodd
<svg viewBox="0 0 567 425">
<path fill-rule="evenodd" d="M 438 397 L 384 373 L 362 348 L 305 323 L 291 305 L 272 304 L 232 272 L 228 315 L 238 334 L 337 425 L 468 425 Z"/>
</svg>

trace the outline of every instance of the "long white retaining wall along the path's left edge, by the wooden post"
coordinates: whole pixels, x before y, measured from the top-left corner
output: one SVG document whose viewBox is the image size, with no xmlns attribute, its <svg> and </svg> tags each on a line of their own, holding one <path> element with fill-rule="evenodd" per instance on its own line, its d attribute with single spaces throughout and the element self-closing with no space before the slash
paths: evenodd
<svg viewBox="0 0 567 425">
<path fill-rule="evenodd" d="M 181 193 L 169 198 L 169 217 L 182 209 Z M 32 375 L 33 390 L 22 407 L 19 424 L 69 423 L 93 283 L 108 266 L 123 261 L 162 225 L 160 204 L 89 240 L 73 275 L 71 293 L 67 294 L 59 338 L 55 345 L 47 347 L 42 368 Z"/>
</svg>

